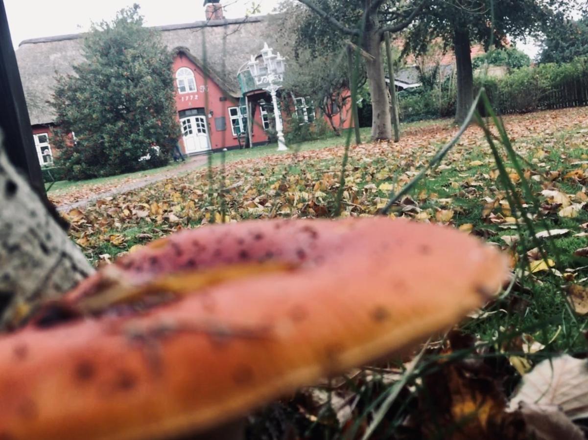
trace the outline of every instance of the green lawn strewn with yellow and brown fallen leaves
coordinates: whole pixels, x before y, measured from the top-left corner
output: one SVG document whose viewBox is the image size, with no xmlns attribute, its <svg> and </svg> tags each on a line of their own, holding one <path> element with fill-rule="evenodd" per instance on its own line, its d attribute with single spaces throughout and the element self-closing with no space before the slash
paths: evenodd
<svg viewBox="0 0 588 440">
<path fill-rule="evenodd" d="M 520 375 L 543 358 L 555 352 L 586 351 L 588 108 L 507 116 L 505 124 L 533 200 L 523 197 L 522 182 L 506 152 L 503 161 L 517 189 L 516 197 L 529 207 L 527 215 L 537 241 L 528 228 L 517 229 L 523 214 L 506 200 L 495 160 L 482 130 L 475 126 L 410 196 L 393 206 L 389 216 L 450 224 L 510 254 L 512 285 L 502 298 L 462 323 L 461 330 L 473 335 L 477 344 L 484 344 L 486 354 L 502 356 L 506 364 L 495 365 L 496 378 L 503 381 L 503 392 L 512 392 Z M 410 182 L 456 132 L 456 127 L 441 122 L 411 127 L 400 143 L 350 147 L 341 215 L 377 214 L 390 193 Z M 344 146 L 335 146 L 239 160 L 99 200 L 95 206 L 65 216 L 72 223 L 72 238 L 96 263 L 175 230 L 206 223 L 332 217 L 338 211 L 344 153 Z M 534 248 L 537 242 L 540 248 Z M 390 258 L 402 255 L 391 253 Z M 450 381 L 457 373 L 435 374 Z M 362 398 L 369 401 L 380 396 L 374 386 L 364 385 L 361 393 L 367 395 L 360 393 Z M 358 411 L 369 412 L 369 405 L 362 405 L 350 409 L 356 418 Z M 292 410 L 288 408 L 275 411 Z M 397 411 L 395 414 L 406 415 L 409 409 Z M 322 420 L 312 411 L 286 415 L 313 421 L 309 429 Z M 331 428 L 326 424 L 320 429 Z"/>
</svg>

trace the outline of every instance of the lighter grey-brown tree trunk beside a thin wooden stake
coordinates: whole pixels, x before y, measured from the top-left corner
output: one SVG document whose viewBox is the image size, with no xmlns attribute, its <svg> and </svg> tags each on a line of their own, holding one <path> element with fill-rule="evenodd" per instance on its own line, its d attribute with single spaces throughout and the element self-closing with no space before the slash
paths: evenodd
<svg viewBox="0 0 588 440">
<path fill-rule="evenodd" d="M 392 139 L 390 103 L 382 64 L 382 36 L 377 31 L 366 31 L 364 48 L 373 58 L 366 58 L 369 91 L 372 97 L 372 140 Z"/>
</svg>

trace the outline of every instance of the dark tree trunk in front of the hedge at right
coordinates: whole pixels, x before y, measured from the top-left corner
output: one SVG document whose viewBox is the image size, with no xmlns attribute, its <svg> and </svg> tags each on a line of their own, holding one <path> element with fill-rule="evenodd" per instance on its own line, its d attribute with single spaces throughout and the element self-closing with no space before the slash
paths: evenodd
<svg viewBox="0 0 588 440">
<path fill-rule="evenodd" d="M 457 103 L 455 122 L 462 123 L 467 117 L 474 100 L 474 76 L 472 68 L 472 49 L 467 29 L 455 29 L 453 48 L 457 65 Z"/>
</svg>

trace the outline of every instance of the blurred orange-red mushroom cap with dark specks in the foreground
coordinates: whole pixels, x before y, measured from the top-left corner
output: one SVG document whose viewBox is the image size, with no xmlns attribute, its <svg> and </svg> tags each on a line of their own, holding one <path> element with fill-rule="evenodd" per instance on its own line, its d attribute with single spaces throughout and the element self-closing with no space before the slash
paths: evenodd
<svg viewBox="0 0 588 440">
<path fill-rule="evenodd" d="M 149 284 L 268 258 L 295 268 L 256 273 L 253 265 L 246 276 L 141 313 L 106 311 L 2 338 L 0 438 L 201 431 L 412 347 L 480 307 L 508 273 L 505 258 L 473 237 L 385 218 L 208 226 L 155 242 L 116 268 Z M 107 281 L 103 272 L 89 278 L 69 304 L 99 295 Z"/>
</svg>

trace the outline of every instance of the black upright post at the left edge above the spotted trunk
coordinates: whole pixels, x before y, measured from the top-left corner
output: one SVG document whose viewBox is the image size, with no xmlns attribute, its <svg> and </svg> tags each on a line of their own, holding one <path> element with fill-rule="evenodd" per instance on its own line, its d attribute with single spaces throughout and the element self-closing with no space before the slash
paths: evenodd
<svg viewBox="0 0 588 440">
<path fill-rule="evenodd" d="M 4 146 L 11 163 L 28 177 L 31 187 L 41 199 L 46 199 L 4 0 L 0 0 L 0 129 L 4 134 Z"/>
</svg>

